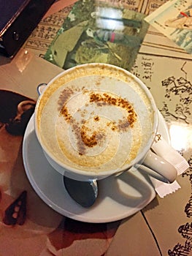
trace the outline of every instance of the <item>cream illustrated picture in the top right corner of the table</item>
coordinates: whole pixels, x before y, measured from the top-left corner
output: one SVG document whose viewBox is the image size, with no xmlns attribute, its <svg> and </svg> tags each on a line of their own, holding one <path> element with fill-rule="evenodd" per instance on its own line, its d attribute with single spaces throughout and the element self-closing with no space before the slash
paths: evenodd
<svg viewBox="0 0 192 256">
<path fill-rule="evenodd" d="M 188 53 L 192 53 L 192 3 L 189 0 L 168 1 L 145 18 Z"/>
</svg>

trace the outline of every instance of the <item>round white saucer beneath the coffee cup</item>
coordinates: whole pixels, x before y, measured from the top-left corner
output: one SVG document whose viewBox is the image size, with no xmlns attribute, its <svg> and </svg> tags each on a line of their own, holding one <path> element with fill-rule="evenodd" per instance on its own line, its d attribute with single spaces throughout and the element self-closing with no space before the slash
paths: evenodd
<svg viewBox="0 0 192 256">
<path fill-rule="evenodd" d="M 159 113 L 159 132 L 169 141 Z M 135 214 L 155 197 L 150 179 L 132 168 L 118 177 L 99 181 L 99 197 L 91 208 L 82 208 L 66 192 L 63 176 L 47 162 L 34 132 L 31 117 L 23 139 L 23 162 L 31 186 L 58 213 L 82 222 L 112 222 Z"/>
</svg>

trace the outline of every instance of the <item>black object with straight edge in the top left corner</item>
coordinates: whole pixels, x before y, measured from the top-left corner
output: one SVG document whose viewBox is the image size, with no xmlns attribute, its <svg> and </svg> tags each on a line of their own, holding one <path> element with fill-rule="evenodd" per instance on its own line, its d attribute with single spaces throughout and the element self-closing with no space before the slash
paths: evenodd
<svg viewBox="0 0 192 256">
<path fill-rule="evenodd" d="M 0 53 L 18 52 L 55 0 L 0 0 Z"/>
</svg>

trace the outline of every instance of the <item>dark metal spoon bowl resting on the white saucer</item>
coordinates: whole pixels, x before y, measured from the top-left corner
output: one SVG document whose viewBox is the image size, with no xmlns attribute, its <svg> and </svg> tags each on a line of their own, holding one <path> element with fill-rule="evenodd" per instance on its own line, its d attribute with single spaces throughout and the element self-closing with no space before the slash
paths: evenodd
<svg viewBox="0 0 192 256">
<path fill-rule="evenodd" d="M 74 201 L 82 207 L 93 206 L 98 195 L 98 187 L 96 180 L 92 181 L 76 181 L 72 178 L 64 176 L 64 185 L 67 192 Z"/>
</svg>

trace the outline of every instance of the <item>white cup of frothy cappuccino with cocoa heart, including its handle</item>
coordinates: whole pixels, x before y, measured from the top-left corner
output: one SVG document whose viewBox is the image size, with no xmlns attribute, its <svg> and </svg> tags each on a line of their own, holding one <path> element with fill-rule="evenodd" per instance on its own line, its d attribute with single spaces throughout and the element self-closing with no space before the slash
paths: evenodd
<svg viewBox="0 0 192 256">
<path fill-rule="evenodd" d="M 93 63 L 61 72 L 37 101 L 34 127 L 47 161 L 69 178 L 99 180 L 142 162 L 163 181 L 177 177 L 163 159 L 149 157 L 158 110 L 145 84 L 120 67 Z"/>
</svg>

